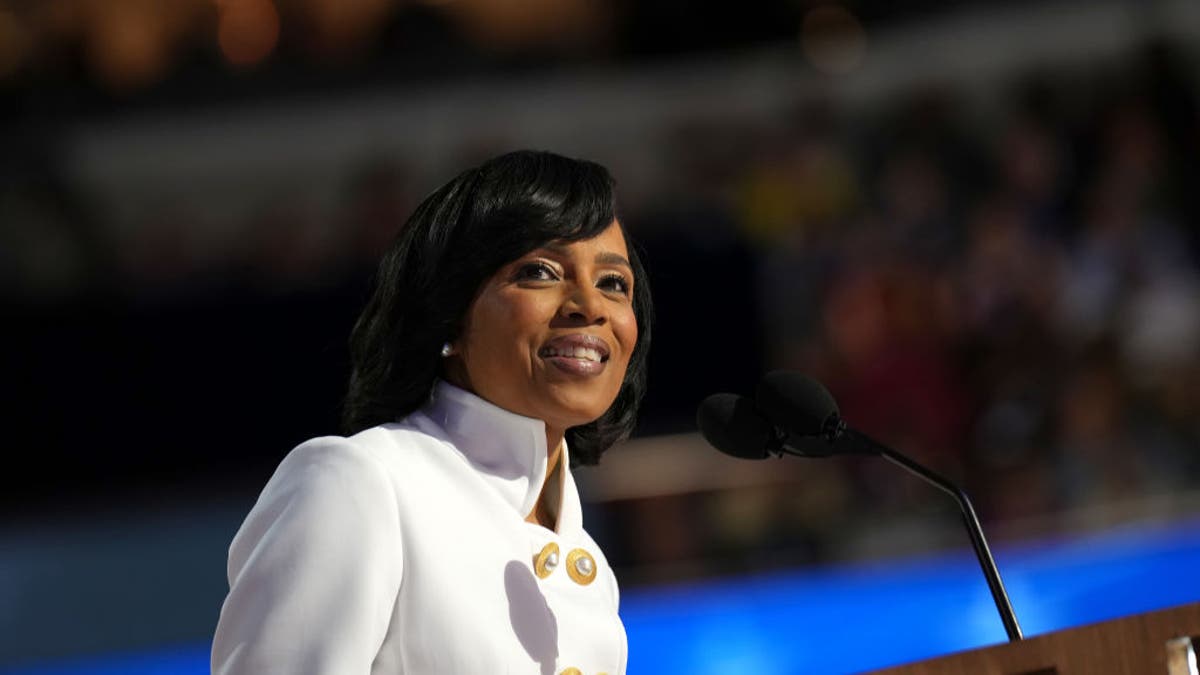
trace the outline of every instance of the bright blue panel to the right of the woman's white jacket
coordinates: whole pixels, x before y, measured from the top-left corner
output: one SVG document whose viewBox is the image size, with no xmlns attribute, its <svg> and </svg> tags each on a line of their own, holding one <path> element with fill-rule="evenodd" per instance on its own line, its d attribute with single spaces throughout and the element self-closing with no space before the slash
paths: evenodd
<svg viewBox="0 0 1200 675">
<path fill-rule="evenodd" d="M 1026 635 L 1200 599 L 1200 522 L 996 557 Z M 631 675 L 856 673 L 1007 640 L 970 554 L 631 592 L 622 616 Z"/>
</svg>

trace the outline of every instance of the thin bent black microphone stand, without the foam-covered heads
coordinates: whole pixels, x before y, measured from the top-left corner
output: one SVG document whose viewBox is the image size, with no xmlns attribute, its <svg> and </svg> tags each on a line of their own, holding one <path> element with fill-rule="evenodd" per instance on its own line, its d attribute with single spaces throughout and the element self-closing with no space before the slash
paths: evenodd
<svg viewBox="0 0 1200 675">
<path fill-rule="evenodd" d="M 971 498 L 967 497 L 967 494 L 934 470 L 918 464 L 916 460 L 893 450 L 869 436 L 850 429 L 836 416 L 832 416 L 827 420 L 826 428 L 822 430 L 822 436 L 830 442 L 835 440 L 850 442 L 856 446 L 856 452 L 858 453 L 880 455 L 954 497 L 954 501 L 959 503 L 959 509 L 962 512 L 962 520 L 966 522 L 967 532 L 971 534 L 971 545 L 974 548 L 976 557 L 979 558 L 979 567 L 983 568 L 983 575 L 988 579 L 991 599 L 996 602 L 996 610 L 1000 611 L 1000 619 L 1004 622 L 1008 640 L 1015 643 L 1022 639 L 1021 627 L 1016 625 L 1016 615 L 1013 613 L 1013 605 L 1008 602 L 1008 593 L 1004 591 L 1004 583 L 1000 580 L 1000 571 L 996 569 L 996 561 L 991 557 L 988 540 L 983 536 L 983 527 L 979 526 L 979 518 L 976 515 L 974 507 L 971 506 Z"/>
</svg>

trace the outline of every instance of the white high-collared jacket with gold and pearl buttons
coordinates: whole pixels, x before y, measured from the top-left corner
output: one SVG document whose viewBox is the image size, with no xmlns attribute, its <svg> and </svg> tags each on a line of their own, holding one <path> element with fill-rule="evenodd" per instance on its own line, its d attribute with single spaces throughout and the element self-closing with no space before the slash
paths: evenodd
<svg viewBox="0 0 1200 675">
<path fill-rule="evenodd" d="M 617 675 L 617 580 L 563 455 L 558 530 L 526 522 L 541 420 L 439 382 L 395 424 L 280 464 L 229 546 L 217 674 Z"/>
</svg>

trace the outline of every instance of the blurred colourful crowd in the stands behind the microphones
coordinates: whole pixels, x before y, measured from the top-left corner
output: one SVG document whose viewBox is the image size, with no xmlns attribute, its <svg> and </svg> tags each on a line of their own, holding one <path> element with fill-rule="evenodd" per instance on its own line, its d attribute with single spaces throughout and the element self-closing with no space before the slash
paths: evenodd
<svg viewBox="0 0 1200 675">
<path fill-rule="evenodd" d="M 865 144 L 800 133 L 743 179 L 769 363 L 964 476 L 989 519 L 1200 473 L 1200 115 L 1194 82 L 1146 56 L 1022 82 L 996 124 L 935 94 Z"/>
</svg>

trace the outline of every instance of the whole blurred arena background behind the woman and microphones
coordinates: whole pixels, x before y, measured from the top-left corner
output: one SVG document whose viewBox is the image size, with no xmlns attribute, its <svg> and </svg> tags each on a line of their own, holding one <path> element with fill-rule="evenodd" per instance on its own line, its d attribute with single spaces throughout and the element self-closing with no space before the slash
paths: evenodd
<svg viewBox="0 0 1200 675">
<path fill-rule="evenodd" d="M 695 435 L 773 369 L 966 488 L 1027 633 L 1200 599 L 1198 104 L 1183 0 L 0 0 L 0 670 L 206 671 L 380 252 L 516 148 L 610 167 L 650 271 L 578 473 L 630 673 L 1003 640 L 941 492 Z"/>
</svg>

